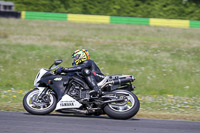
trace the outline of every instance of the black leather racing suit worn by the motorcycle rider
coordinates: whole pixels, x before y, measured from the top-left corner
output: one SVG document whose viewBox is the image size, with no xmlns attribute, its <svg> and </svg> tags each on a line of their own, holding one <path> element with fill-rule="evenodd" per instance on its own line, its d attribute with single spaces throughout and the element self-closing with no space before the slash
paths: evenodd
<svg viewBox="0 0 200 133">
<path fill-rule="evenodd" d="M 101 76 L 97 76 L 97 75 L 103 76 L 103 74 L 93 60 L 88 59 L 86 61 L 83 61 L 79 65 L 75 65 L 69 68 L 63 68 L 63 71 L 64 72 L 75 72 L 75 71 L 82 72 L 89 87 L 96 92 L 100 91 L 97 85 L 97 82 L 100 82 L 102 78 Z"/>
</svg>

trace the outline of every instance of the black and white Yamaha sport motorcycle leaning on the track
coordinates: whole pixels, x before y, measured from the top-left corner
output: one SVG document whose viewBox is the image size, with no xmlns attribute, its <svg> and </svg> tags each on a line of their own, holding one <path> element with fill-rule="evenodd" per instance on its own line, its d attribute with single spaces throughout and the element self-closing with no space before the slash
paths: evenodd
<svg viewBox="0 0 200 133">
<path fill-rule="evenodd" d="M 99 116 L 107 114 L 114 119 L 129 119 L 137 114 L 140 103 L 132 93 L 135 78 L 131 75 L 102 76 L 98 83 L 102 94 L 93 96 L 81 72 L 56 73 L 62 60 L 56 60 L 49 69 L 38 72 L 34 86 L 23 98 L 24 109 L 34 115 L 46 115 L 56 110 Z"/>
</svg>

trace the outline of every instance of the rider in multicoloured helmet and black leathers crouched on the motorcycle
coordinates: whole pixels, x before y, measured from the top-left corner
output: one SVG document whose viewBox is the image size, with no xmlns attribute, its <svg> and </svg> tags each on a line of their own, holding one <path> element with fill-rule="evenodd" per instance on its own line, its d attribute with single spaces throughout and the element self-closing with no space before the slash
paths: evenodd
<svg viewBox="0 0 200 133">
<path fill-rule="evenodd" d="M 93 89 L 90 94 L 93 96 L 101 95 L 97 82 L 102 80 L 103 74 L 96 63 L 89 59 L 89 52 L 85 49 L 78 49 L 73 52 L 72 58 L 73 67 L 60 67 L 57 69 L 57 73 L 79 71 L 84 76 L 89 87 Z"/>
</svg>

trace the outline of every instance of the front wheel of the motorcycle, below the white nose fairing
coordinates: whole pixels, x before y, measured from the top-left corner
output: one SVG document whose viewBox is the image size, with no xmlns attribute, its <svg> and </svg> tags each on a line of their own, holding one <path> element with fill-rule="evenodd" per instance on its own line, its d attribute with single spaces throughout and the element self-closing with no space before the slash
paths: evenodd
<svg viewBox="0 0 200 133">
<path fill-rule="evenodd" d="M 38 95 L 38 89 L 28 92 L 23 99 L 24 109 L 34 115 L 46 115 L 51 113 L 56 108 L 56 97 L 50 93 L 45 95 L 43 100 L 39 100 Z"/>
</svg>

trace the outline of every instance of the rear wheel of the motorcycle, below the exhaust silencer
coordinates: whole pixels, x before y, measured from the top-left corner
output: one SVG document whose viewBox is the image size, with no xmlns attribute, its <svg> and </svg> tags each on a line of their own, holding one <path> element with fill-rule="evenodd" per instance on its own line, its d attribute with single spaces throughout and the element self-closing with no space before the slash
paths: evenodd
<svg viewBox="0 0 200 133">
<path fill-rule="evenodd" d="M 140 108 L 140 102 L 135 94 L 127 90 L 113 91 L 118 97 L 123 97 L 123 102 L 109 103 L 104 107 L 104 112 L 114 119 L 130 119 L 135 116 Z"/>
</svg>

